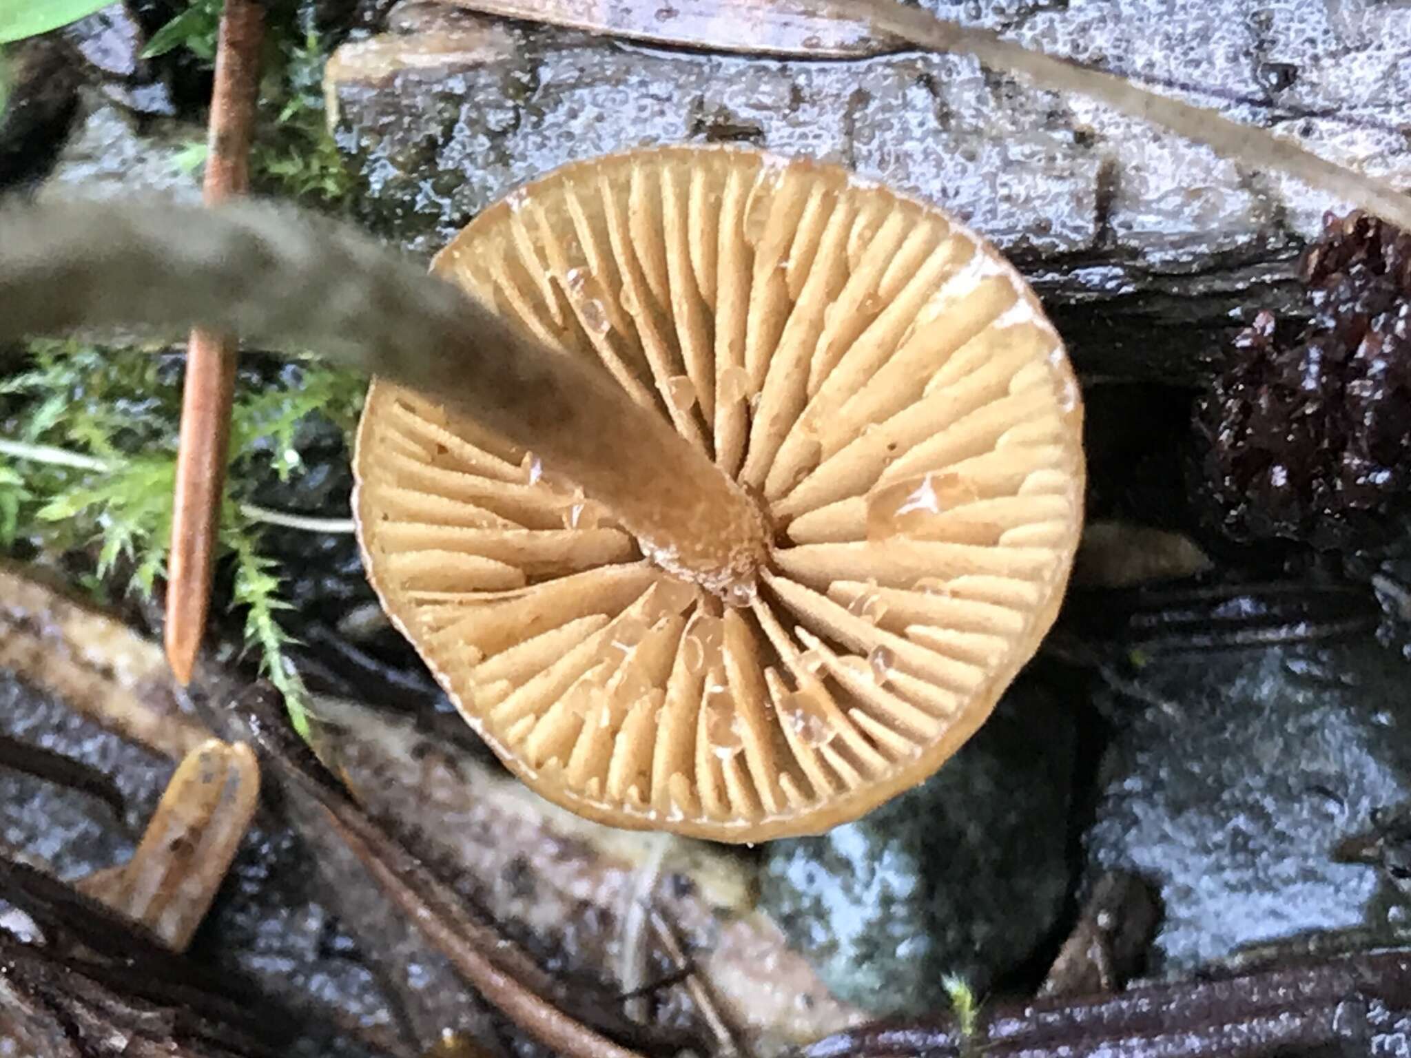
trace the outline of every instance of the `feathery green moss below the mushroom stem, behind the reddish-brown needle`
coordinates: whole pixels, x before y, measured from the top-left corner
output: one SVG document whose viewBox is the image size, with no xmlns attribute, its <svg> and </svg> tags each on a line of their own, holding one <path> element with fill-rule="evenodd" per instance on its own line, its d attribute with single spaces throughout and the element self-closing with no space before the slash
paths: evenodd
<svg viewBox="0 0 1411 1058">
<path fill-rule="evenodd" d="M 95 594 L 150 595 L 164 576 L 172 523 L 181 361 L 154 348 L 35 341 L 30 370 L 0 381 L 0 552 L 79 554 Z M 251 379 L 246 379 L 250 382 Z M 246 388 L 231 416 L 231 464 L 217 559 L 233 567 L 231 604 L 261 670 L 295 725 L 305 690 L 285 649 L 281 571 L 243 505 L 271 477 L 302 468 L 299 437 L 322 416 L 349 437 L 365 379 L 316 363 Z"/>
</svg>

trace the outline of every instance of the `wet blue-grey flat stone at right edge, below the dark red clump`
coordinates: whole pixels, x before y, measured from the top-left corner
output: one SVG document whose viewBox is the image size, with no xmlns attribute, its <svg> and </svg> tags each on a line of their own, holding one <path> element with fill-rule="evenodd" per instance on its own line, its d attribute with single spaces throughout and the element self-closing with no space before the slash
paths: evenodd
<svg viewBox="0 0 1411 1058">
<path fill-rule="evenodd" d="M 1147 701 L 1099 693 L 1115 734 L 1088 869 L 1158 887 L 1157 969 L 1309 932 L 1404 931 L 1404 897 L 1333 855 L 1374 808 L 1411 798 L 1408 674 L 1366 636 L 1153 659 L 1134 680 Z"/>
</svg>

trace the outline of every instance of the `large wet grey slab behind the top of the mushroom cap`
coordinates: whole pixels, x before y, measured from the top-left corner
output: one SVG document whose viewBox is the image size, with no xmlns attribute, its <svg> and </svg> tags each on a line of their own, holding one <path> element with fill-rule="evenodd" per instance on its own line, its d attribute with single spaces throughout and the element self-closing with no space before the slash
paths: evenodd
<svg viewBox="0 0 1411 1058">
<path fill-rule="evenodd" d="M 1400 131 L 1411 96 L 1395 89 L 1411 69 L 1405 7 L 937 10 L 1055 55 L 1198 86 L 1182 97 L 1411 182 Z M 419 254 L 567 161 L 749 142 L 842 162 L 952 210 L 1016 257 L 1088 371 L 1191 378 L 1230 309 L 1287 300 L 1298 245 L 1340 205 L 965 56 L 673 51 L 425 0 L 395 8 L 388 25 L 340 49 L 326 83 L 367 189 L 364 220 Z"/>
</svg>

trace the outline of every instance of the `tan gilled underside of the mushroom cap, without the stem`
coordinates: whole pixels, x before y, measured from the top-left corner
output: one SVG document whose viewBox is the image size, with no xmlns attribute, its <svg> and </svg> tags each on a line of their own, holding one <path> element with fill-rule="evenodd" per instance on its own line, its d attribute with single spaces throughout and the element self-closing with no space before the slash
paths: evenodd
<svg viewBox="0 0 1411 1058">
<path fill-rule="evenodd" d="M 1033 291 L 940 209 L 832 165 L 652 148 L 515 190 L 433 271 L 600 361 L 772 540 L 753 588 L 713 594 L 532 451 L 374 381 L 368 576 L 549 800 L 717 841 L 820 832 L 940 767 L 1053 624 L 1078 385 Z"/>
</svg>

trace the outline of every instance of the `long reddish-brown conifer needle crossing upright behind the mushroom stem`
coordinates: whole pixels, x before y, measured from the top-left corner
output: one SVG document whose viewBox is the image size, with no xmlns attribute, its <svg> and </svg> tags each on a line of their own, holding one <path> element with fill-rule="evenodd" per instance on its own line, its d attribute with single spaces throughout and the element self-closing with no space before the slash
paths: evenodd
<svg viewBox="0 0 1411 1058">
<path fill-rule="evenodd" d="M 264 13 L 255 0 L 227 0 L 216 48 L 203 195 L 216 205 L 250 183 L 250 140 L 260 83 Z M 176 492 L 166 580 L 166 659 L 182 683 L 206 629 L 212 566 L 220 530 L 220 501 L 230 450 L 230 409 L 236 385 L 236 340 L 192 330 L 186 353 Z"/>
</svg>

